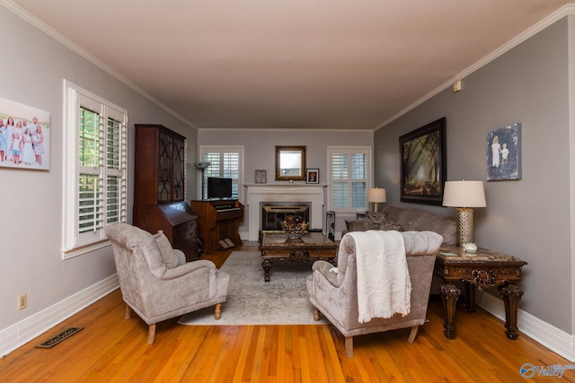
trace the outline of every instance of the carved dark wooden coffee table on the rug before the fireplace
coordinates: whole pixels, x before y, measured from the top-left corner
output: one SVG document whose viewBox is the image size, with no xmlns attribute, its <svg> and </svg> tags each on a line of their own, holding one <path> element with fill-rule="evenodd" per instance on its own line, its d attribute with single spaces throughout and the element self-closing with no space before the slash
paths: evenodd
<svg viewBox="0 0 575 383">
<path fill-rule="evenodd" d="M 320 259 L 332 261 L 337 255 L 338 246 L 320 232 L 304 234 L 301 239 L 288 239 L 286 234 L 264 232 L 260 250 L 264 281 L 270 282 L 272 260 L 310 263 Z"/>
</svg>

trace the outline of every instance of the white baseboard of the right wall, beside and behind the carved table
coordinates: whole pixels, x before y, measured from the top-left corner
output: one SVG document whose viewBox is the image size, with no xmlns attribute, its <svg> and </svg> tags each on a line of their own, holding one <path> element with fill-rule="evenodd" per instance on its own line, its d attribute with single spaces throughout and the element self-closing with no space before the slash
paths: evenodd
<svg viewBox="0 0 575 383">
<path fill-rule="evenodd" d="M 478 295 L 478 306 L 505 322 L 503 300 L 487 292 L 476 295 Z M 568 361 L 575 361 L 575 336 L 551 326 L 521 309 L 517 311 L 517 327 L 519 332 L 542 344 L 553 353 L 558 353 Z"/>
</svg>

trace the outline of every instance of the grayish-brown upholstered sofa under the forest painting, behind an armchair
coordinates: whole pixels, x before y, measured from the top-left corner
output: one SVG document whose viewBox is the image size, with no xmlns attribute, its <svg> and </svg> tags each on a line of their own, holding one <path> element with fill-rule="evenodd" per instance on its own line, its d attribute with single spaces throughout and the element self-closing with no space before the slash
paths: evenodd
<svg viewBox="0 0 575 383">
<path fill-rule="evenodd" d="M 346 231 L 396 230 L 435 231 L 443 237 L 444 245 L 456 245 L 456 220 L 452 217 L 420 209 L 404 209 L 387 205 L 382 212 L 367 213 L 365 219 L 346 221 Z"/>
</svg>

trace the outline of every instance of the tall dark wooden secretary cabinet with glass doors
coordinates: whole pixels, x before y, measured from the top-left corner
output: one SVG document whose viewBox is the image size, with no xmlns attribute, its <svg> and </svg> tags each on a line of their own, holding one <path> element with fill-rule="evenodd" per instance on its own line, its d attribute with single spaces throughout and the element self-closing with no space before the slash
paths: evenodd
<svg viewBox="0 0 575 383">
<path fill-rule="evenodd" d="M 198 257 L 198 216 L 185 201 L 186 138 L 162 125 L 136 124 L 134 225 L 164 234 L 188 261 Z"/>
</svg>

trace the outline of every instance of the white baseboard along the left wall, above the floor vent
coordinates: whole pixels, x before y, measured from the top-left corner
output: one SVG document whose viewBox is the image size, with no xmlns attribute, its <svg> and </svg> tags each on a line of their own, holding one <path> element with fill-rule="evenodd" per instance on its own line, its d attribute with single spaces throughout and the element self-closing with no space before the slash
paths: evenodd
<svg viewBox="0 0 575 383">
<path fill-rule="evenodd" d="M 4 328 L 0 331 L 0 355 L 11 353 L 23 344 L 27 344 L 118 287 L 118 275 L 113 274 L 65 300 L 60 300 L 47 309 Z"/>
</svg>

